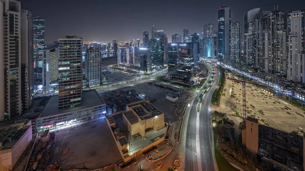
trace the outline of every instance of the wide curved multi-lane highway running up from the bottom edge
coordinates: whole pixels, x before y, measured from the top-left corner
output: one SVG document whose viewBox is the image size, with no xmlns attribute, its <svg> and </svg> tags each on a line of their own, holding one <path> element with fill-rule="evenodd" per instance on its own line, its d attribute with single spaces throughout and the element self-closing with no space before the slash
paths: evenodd
<svg viewBox="0 0 305 171">
<path fill-rule="evenodd" d="M 214 157 L 211 113 L 209 112 L 210 100 L 219 81 L 218 69 L 214 67 L 215 78 L 212 86 L 203 95 L 200 112 L 197 113 L 197 103 L 203 90 L 197 92 L 189 111 L 189 118 L 185 123 L 187 124 L 185 170 L 188 171 L 218 170 Z"/>
</svg>

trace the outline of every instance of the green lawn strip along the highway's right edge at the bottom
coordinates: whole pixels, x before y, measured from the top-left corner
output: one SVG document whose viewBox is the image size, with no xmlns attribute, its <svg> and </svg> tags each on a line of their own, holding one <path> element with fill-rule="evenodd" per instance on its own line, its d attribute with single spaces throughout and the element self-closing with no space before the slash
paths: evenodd
<svg viewBox="0 0 305 171">
<path fill-rule="evenodd" d="M 216 147 L 216 135 L 214 134 L 214 146 Z M 217 161 L 218 169 L 220 171 L 239 171 L 237 168 L 233 167 L 215 148 L 215 158 Z"/>
</svg>

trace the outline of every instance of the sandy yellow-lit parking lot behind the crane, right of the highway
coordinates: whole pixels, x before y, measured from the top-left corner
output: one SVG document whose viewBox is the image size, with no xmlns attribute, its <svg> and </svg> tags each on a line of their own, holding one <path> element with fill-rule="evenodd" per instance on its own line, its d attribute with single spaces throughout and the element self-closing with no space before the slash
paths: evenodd
<svg viewBox="0 0 305 171">
<path fill-rule="evenodd" d="M 220 111 L 242 113 L 242 85 L 226 80 L 225 96 L 220 102 Z M 247 83 L 247 116 L 253 116 L 272 127 L 286 131 L 305 128 L 304 112 L 287 102 L 278 99 L 275 94 Z"/>
</svg>

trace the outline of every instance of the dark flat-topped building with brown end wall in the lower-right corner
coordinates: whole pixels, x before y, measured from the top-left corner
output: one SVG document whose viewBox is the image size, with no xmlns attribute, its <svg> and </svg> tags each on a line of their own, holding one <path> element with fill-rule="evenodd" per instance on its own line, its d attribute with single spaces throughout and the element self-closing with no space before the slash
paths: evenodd
<svg viewBox="0 0 305 171">
<path fill-rule="evenodd" d="M 305 168 L 304 137 L 284 132 L 248 117 L 240 125 L 242 144 L 250 155 L 260 156 L 263 162 L 275 170 L 303 170 Z"/>
</svg>

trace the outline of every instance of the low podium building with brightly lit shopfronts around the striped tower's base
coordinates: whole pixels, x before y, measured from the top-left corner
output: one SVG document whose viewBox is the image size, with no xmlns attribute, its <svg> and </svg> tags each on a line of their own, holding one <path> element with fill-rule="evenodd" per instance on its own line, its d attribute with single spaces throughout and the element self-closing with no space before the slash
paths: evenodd
<svg viewBox="0 0 305 171">
<path fill-rule="evenodd" d="M 58 109 L 58 105 L 58 95 L 51 96 L 36 119 L 35 130 L 55 129 L 106 114 L 106 104 L 95 89 L 82 91 L 80 105 L 64 109 Z"/>
</svg>

